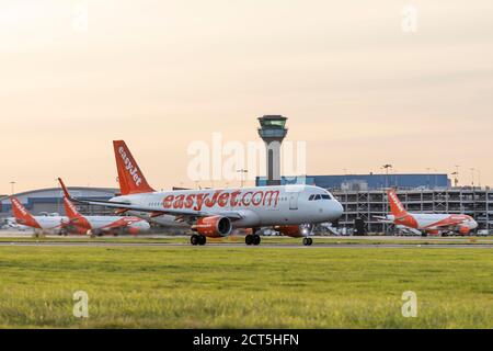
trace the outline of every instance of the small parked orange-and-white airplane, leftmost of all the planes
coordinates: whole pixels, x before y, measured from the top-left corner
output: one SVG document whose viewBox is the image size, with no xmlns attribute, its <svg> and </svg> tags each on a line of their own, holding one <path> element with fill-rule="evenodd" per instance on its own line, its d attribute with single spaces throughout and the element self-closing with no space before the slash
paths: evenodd
<svg viewBox="0 0 493 351">
<path fill-rule="evenodd" d="M 64 222 L 67 217 L 64 216 L 33 216 L 22 204 L 14 197 L 10 197 L 12 203 L 12 212 L 19 227 L 30 227 L 34 229 L 35 234 L 61 234 L 64 231 Z"/>
</svg>

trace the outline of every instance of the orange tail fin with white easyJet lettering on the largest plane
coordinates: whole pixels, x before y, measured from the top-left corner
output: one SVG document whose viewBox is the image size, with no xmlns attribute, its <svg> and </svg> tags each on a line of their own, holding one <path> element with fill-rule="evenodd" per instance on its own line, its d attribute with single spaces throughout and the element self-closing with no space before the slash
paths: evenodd
<svg viewBox="0 0 493 351">
<path fill-rule="evenodd" d="M 113 141 L 115 149 L 116 169 L 118 170 L 119 190 L 122 195 L 151 193 L 142 171 L 131 156 L 130 150 L 123 140 Z"/>
</svg>

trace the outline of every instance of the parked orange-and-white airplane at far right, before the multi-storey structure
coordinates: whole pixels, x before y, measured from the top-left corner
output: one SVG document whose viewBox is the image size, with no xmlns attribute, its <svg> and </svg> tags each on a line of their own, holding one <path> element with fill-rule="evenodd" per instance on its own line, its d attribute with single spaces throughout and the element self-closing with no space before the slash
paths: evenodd
<svg viewBox="0 0 493 351">
<path fill-rule="evenodd" d="M 439 235 L 442 231 L 456 231 L 461 235 L 469 235 L 478 228 L 478 223 L 468 215 L 409 213 L 399 200 L 395 190 L 390 189 L 388 195 L 392 214 L 386 217 L 377 217 L 382 219 L 382 222 L 431 235 Z"/>
</svg>

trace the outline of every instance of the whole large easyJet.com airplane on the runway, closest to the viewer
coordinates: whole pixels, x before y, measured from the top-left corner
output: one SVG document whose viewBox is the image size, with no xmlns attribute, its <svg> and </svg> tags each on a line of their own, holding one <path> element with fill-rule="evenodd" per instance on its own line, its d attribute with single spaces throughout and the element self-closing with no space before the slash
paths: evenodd
<svg viewBox="0 0 493 351">
<path fill-rule="evenodd" d="M 331 193 L 311 185 L 157 192 L 148 184 L 125 141 L 113 141 L 113 146 L 121 195 L 110 201 L 73 201 L 112 207 L 117 213 L 171 215 L 195 231 L 191 236 L 193 246 L 205 245 L 207 238 L 228 237 L 239 228 L 252 229 L 245 244 L 257 246 L 261 227 L 275 227 L 286 236 L 303 238 L 303 245 L 310 246 L 313 240 L 307 225 L 336 220 L 344 212 Z"/>
</svg>

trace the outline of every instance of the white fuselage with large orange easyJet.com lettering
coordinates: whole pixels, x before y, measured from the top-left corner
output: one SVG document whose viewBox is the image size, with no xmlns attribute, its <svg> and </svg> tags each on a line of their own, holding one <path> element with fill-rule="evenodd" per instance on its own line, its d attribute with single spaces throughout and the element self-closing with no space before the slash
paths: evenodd
<svg viewBox="0 0 493 351">
<path fill-rule="evenodd" d="M 332 222 L 344 211 L 329 192 L 311 185 L 153 192 L 117 196 L 111 201 L 156 208 L 157 212 L 190 211 L 198 216 L 234 213 L 241 216 L 232 222 L 234 228 Z"/>
</svg>

